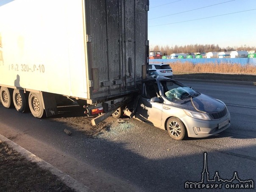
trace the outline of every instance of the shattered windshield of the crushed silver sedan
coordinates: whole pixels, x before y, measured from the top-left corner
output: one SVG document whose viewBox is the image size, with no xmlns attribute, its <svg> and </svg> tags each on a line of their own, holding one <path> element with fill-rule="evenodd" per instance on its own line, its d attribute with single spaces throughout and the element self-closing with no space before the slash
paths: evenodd
<svg viewBox="0 0 256 192">
<path fill-rule="evenodd" d="M 169 100 L 183 100 L 190 97 L 197 97 L 199 92 L 174 81 L 161 81 L 163 94 Z"/>
</svg>

